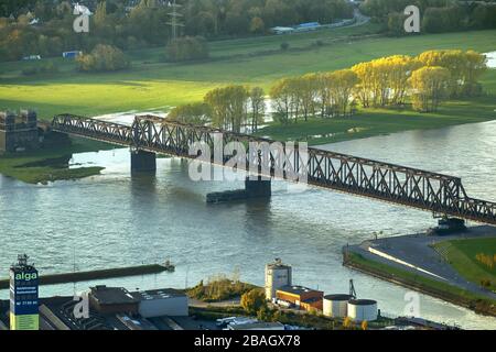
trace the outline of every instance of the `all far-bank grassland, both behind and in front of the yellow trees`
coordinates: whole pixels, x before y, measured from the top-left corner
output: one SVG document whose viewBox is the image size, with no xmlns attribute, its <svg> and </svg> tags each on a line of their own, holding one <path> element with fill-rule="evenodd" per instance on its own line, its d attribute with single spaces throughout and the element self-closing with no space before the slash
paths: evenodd
<svg viewBox="0 0 496 352">
<path fill-rule="evenodd" d="M 58 68 L 56 74 L 26 77 L 22 70 L 41 65 L 43 61 L 0 63 L 0 109 L 32 108 L 43 120 L 64 112 L 98 116 L 168 110 L 200 101 L 208 90 L 228 84 L 258 85 L 268 90 L 281 77 L 346 68 L 387 55 L 416 55 L 440 48 L 472 48 L 482 53 L 496 50 L 496 31 L 359 40 L 377 31 L 378 25 L 366 24 L 294 35 L 212 42 L 212 59 L 190 64 L 164 63 L 162 48 L 134 51 L 128 53 L 132 68 L 112 74 L 78 73 L 74 62 L 54 58 Z M 317 41 L 323 45 L 316 45 Z M 290 50 L 280 50 L 283 42 L 290 44 Z M 411 109 L 367 109 L 349 119 L 311 119 L 290 125 L 271 123 L 259 134 L 276 140 L 308 140 L 310 144 L 322 144 L 496 119 L 496 69 L 488 70 L 482 82 L 488 96 L 445 102 L 436 113 L 421 114 Z M 91 148 L 96 146 L 85 146 L 85 151 Z M 99 169 L 73 170 L 50 165 L 22 167 L 26 163 L 64 156 L 65 152 L 40 151 L 0 157 L 0 173 L 29 183 L 99 173 Z"/>
</svg>

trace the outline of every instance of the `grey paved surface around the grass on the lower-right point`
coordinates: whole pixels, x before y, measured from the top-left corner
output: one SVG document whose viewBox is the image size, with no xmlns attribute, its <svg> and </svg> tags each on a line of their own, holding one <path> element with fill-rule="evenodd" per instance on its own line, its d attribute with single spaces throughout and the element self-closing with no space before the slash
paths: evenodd
<svg viewBox="0 0 496 352">
<path fill-rule="evenodd" d="M 476 227 L 470 228 L 468 231 L 457 233 L 454 235 L 444 235 L 444 237 L 428 237 L 423 233 L 418 234 L 409 234 L 402 237 L 395 238 L 385 238 L 378 240 L 365 241 L 359 245 L 352 245 L 349 249 L 353 252 L 359 253 L 367 258 L 382 262 L 388 265 L 397 266 L 402 270 L 407 270 L 417 275 L 423 275 L 425 277 L 438 279 L 441 282 L 445 282 L 459 287 L 462 287 L 466 290 L 470 290 L 475 294 L 479 294 L 482 296 L 486 296 L 492 299 L 496 299 L 496 294 L 482 288 L 481 286 L 466 280 L 462 277 L 449 263 L 446 263 L 443 257 L 431 246 L 438 242 L 444 242 L 449 240 L 455 239 L 470 239 L 470 238 L 483 238 L 483 237 L 496 237 L 496 228 L 494 227 Z M 435 276 L 429 275 L 427 273 L 422 273 L 416 268 L 396 263 L 391 260 L 381 257 L 374 253 L 369 252 L 369 248 L 376 249 L 387 255 L 390 255 L 395 258 L 407 262 L 411 265 L 420 267 L 424 271 L 428 271 L 432 274 L 441 276 L 443 279 L 440 279 Z"/>
</svg>

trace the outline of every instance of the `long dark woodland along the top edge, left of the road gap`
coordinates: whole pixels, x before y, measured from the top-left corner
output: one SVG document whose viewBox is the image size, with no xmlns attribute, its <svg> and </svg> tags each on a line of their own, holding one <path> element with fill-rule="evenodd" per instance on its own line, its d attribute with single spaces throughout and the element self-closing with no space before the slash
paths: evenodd
<svg viewBox="0 0 496 352">
<path fill-rule="evenodd" d="M 63 51 L 90 52 L 98 44 L 120 50 L 165 45 L 172 38 L 169 1 L 86 0 L 94 12 L 90 35 L 73 31 L 73 6 L 65 0 L 0 2 L 0 61 L 28 55 L 60 56 Z M 328 23 L 353 16 L 345 0 L 179 0 L 181 35 L 231 37 L 267 33 L 277 25 L 308 21 Z M 34 19 L 40 20 L 33 24 Z"/>
</svg>

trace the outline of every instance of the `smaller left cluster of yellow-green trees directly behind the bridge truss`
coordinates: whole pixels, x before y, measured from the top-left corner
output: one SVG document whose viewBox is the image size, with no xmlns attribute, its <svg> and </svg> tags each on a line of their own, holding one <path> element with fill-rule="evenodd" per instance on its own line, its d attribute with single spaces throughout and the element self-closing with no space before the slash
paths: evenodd
<svg viewBox="0 0 496 352">
<path fill-rule="evenodd" d="M 169 118 L 184 123 L 256 132 L 266 114 L 265 91 L 260 87 L 228 86 L 211 90 L 203 102 L 174 108 Z"/>
</svg>

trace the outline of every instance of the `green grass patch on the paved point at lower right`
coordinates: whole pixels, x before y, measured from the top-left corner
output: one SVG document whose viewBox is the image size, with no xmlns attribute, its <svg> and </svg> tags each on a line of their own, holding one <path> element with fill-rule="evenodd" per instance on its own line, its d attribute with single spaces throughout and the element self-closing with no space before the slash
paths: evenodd
<svg viewBox="0 0 496 352">
<path fill-rule="evenodd" d="M 490 289 L 496 290 L 496 267 L 489 268 L 475 258 L 479 253 L 496 254 L 496 238 L 445 241 L 434 246 L 463 277 L 477 285 L 488 279 Z"/>
</svg>

